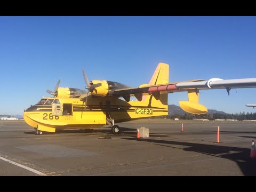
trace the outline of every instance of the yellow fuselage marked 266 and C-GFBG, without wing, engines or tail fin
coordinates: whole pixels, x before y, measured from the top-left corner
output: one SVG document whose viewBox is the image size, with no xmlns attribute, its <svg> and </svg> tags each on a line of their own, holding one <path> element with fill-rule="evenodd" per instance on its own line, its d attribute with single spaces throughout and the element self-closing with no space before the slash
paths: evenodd
<svg viewBox="0 0 256 192">
<path fill-rule="evenodd" d="M 100 128 L 107 124 L 107 119 L 120 123 L 167 113 L 167 105 L 152 107 L 149 102 L 126 102 L 113 97 L 94 98 L 89 95 L 86 108 L 85 100 L 79 98 L 44 97 L 25 110 L 23 117 L 34 129 L 55 132 L 63 129 Z"/>
</svg>

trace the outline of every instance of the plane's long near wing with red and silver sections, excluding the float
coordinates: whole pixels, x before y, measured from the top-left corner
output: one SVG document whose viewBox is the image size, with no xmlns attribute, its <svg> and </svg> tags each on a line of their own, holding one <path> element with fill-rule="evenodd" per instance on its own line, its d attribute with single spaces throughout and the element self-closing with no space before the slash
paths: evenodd
<svg viewBox="0 0 256 192">
<path fill-rule="evenodd" d="M 188 90 L 205 90 L 205 89 L 227 89 L 229 94 L 232 88 L 256 87 L 256 78 L 244 79 L 219 79 L 211 78 L 209 81 L 195 79 L 191 81 L 174 82 L 159 85 L 140 85 L 139 87 L 131 87 L 127 89 L 117 89 L 110 92 L 110 95 L 121 97 L 136 94 L 151 94 L 154 92 L 180 92 Z"/>
</svg>

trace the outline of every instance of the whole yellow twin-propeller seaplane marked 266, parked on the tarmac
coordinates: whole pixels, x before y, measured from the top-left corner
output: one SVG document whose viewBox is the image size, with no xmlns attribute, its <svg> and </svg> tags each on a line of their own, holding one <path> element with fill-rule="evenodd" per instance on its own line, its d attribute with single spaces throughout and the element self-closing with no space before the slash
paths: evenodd
<svg viewBox="0 0 256 192">
<path fill-rule="evenodd" d="M 207 108 L 199 103 L 199 90 L 256 87 L 256 78 L 211 78 L 208 81 L 169 83 L 169 65 L 159 63 L 148 84 L 138 87 L 111 81 L 88 81 L 83 69 L 84 90 L 58 87 L 47 90 L 54 97 L 43 97 L 36 105 L 23 113 L 27 124 L 34 127 L 35 134 L 63 129 L 92 129 L 109 124 L 113 133 L 119 132 L 115 123 L 133 119 L 168 115 L 167 94 L 187 91 L 188 101 L 179 101 L 180 107 L 191 114 L 205 114 Z M 131 96 L 137 101 L 131 101 Z"/>
</svg>

